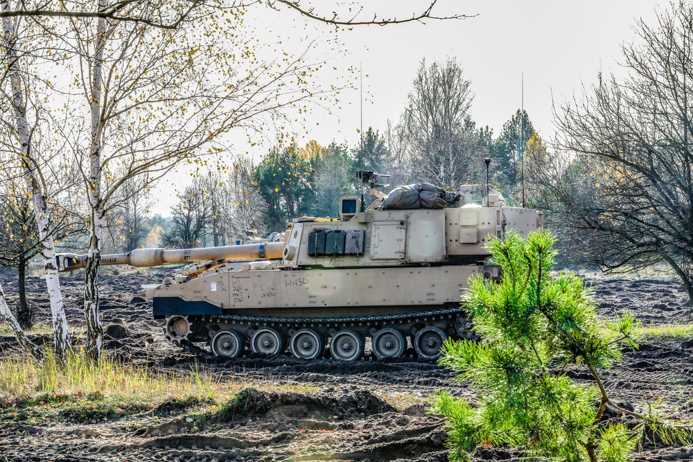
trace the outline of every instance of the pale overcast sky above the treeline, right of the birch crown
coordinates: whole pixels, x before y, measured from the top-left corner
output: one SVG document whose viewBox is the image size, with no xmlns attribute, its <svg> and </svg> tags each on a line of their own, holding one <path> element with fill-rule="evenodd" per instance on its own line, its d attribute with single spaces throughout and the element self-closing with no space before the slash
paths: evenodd
<svg viewBox="0 0 693 462">
<path fill-rule="evenodd" d="M 314 1 L 316 10 L 325 0 Z M 426 0 L 362 1 L 385 17 L 409 17 L 428 7 Z M 309 2 L 301 5 L 308 6 Z M 349 4 L 347 4 L 349 5 Z M 661 5 L 661 6 L 660 6 Z M 249 11 L 248 25 L 256 27 L 258 38 L 288 40 L 300 53 L 306 39 L 317 46 L 310 55 L 326 60 L 328 67 L 340 71 L 362 66 L 365 103 L 363 125 L 383 132 L 387 119 L 397 121 L 406 102 L 412 80 L 422 59 L 427 62 L 455 57 L 471 80 L 475 94 L 471 112 L 477 125 L 489 125 L 495 136 L 503 123 L 520 108 L 524 74 L 524 106 L 535 130 L 544 138 L 554 134 L 552 105 L 560 105 L 580 91 L 581 85 L 595 82 L 598 71 L 619 72 L 620 46 L 635 39 L 637 19 L 652 24 L 656 10 L 668 1 L 653 0 L 439 0 L 434 14 L 476 15 L 469 19 L 427 21 L 427 24 L 361 26 L 344 31 L 338 37 L 342 51 L 333 51 L 328 26 L 307 21 L 288 10 Z M 328 8 L 328 13 L 332 8 Z M 392 13 L 392 14 L 391 14 Z M 325 79 L 334 75 L 319 75 Z M 360 96 L 358 90 L 343 92 L 341 108 L 332 114 L 315 109 L 306 126 L 295 126 L 299 143 L 315 139 L 326 145 L 331 141 L 358 143 Z M 305 135 L 308 132 L 308 135 Z M 267 136 L 271 138 L 271 135 Z M 240 141 L 236 152 L 245 152 Z M 269 146 L 257 148 L 258 157 Z M 179 179 L 165 183 L 180 186 Z M 168 215 L 173 197 L 159 201 L 155 213 Z"/>
</svg>

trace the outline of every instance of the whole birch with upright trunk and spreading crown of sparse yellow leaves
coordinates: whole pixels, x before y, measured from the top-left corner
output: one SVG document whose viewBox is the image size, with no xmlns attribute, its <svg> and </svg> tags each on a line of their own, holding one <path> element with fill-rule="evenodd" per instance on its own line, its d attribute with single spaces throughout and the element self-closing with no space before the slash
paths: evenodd
<svg viewBox="0 0 693 462">
<path fill-rule="evenodd" d="M 64 62 L 75 75 L 66 94 L 82 95 L 82 111 L 70 108 L 74 118 L 64 136 L 88 199 L 85 349 L 98 358 L 100 233 L 125 181 L 146 176 L 153 184 L 179 163 L 223 152 L 218 140 L 229 130 L 273 127 L 285 107 L 322 90 L 310 84 L 317 64 L 305 53 L 261 60 L 263 46 L 252 43 L 236 10 L 204 15 L 185 30 L 92 23 L 73 19 L 60 39 L 75 56 Z"/>
</svg>

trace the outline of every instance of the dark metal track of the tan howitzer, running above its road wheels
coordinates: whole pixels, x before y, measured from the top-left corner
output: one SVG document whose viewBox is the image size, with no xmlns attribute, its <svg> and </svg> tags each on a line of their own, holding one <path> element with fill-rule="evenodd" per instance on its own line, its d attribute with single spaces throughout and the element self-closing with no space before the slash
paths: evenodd
<svg viewBox="0 0 693 462">
<path fill-rule="evenodd" d="M 308 318 L 295 318 L 295 317 L 267 317 L 267 316 L 248 316 L 240 314 L 229 314 L 220 316 L 200 316 L 196 317 L 200 321 L 204 322 L 227 322 L 243 326 L 244 324 L 249 326 L 302 326 L 302 327 L 314 327 L 314 326 L 362 326 L 363 324 L 369 323 L 412 323 L 419 321 L 428 321 L 430 319 L 444 319 L 445 317 L 452 317 L 453 314 L 464 314 L 465 310 L 462 308 L 444 308 L 440 310 L 429 310 L 429 311 L 419 311 L 403 314 L 387 314 L 380 316 L 365 316 L 365 317 L 308 317 Z M 170 339 L 169 339 L 170 340 Z M 171 340 L 170 340 L 171 341 Z M 192 341 L 187 339 L 181 339 L 179 341 L 171 341 L 172 344 L 177 345 L 184 350 L 192 353 L 200 359 L 212 359 L 216 356 L 211 353 L 210 350 L 202 348 L 195 345 Z"/>
</svg>

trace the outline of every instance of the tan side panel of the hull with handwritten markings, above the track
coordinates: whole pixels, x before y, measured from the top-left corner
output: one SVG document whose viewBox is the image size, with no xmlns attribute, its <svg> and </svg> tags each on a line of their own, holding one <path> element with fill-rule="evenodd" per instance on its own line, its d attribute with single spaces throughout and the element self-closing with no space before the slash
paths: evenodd
<svg viewBox="0 0 693 462">
<path fill-rule="evenodd" d="M 154 292 L 156 305 L 166 303 L 202 302 L 223 309 L 225 314 L 262 310 L 283 312 L 307 308 L 313 315 L 340 316 L 346 311 L 371 310 L 374 307 L 397 307 L 407 312 L 420 307 L 459 303 L 469 276 L 481 274 L 484 267 L 457 265 L 441 267 L 308 269 L 283 271 L 229 271 L 211 274 L 161 287 Z M 155 306 L 156 306 L 155 305 Z M 197 309 L 197 308 L 195 308 Z M 211 310 L 211 308 L 209 308 Z M 158 311 L 163 313 L 163 308 Z M 170 314 L 189 313 L 188 309 Z M 397 311 L 399 311 L 397 310 Z M 195 313 L 195 314 L 213 314 Z"/>
</svg>

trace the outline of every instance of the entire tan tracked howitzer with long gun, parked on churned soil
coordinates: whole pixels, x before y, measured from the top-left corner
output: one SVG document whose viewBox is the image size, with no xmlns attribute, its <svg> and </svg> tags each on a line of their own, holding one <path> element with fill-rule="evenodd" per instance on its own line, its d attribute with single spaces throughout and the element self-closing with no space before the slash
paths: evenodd
<svg viewBox="0 0 693 462">
<path fill-rule="evenodd" d="M 460 305 L 467 279 L 500 277 L 485 263 L 489 236 L 509 229 L 524 236 L 541 227 L 542 215 L 505 206 L 486 185 L 456 193 L 412 185 L 385 196 L 373 187 L 377 174 L 362 179 L 376 196 L 367 209 L 344 197 L 339 218 L 295 218 L 283 242 L 138 249 L 101 264 L 207 262 L 144 286 L 166 337 L 198 353 L 207 351 L 200 342 L 229 358 L 288 349 L 314 359 L 328 348 L 334 359 L 353 361 L 367 343 L 378 359 L 401 356 L 411 344 L 419 357 L 436 359 L 446 338 L 474 335 Z M 60 264 L 69 271 L 85 260 L 63 254 Z"/>
</svg>

